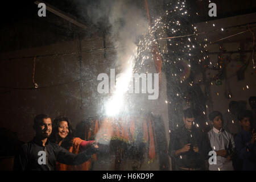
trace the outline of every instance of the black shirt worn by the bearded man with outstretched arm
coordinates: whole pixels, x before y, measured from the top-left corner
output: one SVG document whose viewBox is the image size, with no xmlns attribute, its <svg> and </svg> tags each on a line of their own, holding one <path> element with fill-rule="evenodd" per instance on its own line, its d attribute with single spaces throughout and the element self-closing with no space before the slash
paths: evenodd
<svg viewBox="0 0 256 182">
<path fill-rule="evenodd" d="M 38 159 L 41 157 L 39 151 L 46 152 L 46 164 L 39 164 Z M 80 154 L 73 154 L 48 140 L 44 147 L 42 141 L 34 138 L 23 144 L 19 155 L 15 157 L 14 170 L 53 171 L 56 169 L 56 162 L 68 165 L 82 164 L 90 159 L 93 152 L 95 151 L 92 149 L 85 150 Z"/>
</svg>

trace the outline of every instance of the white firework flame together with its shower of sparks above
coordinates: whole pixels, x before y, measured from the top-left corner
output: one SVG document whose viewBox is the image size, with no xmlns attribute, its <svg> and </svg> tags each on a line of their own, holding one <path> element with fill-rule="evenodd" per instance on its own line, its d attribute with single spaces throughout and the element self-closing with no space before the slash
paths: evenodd
<svg viewBox="0 0 256 182">
<path fill-rule="evenodd" d="M 166 10 L 162 16 L 152 21 L 152 26 L 149 26 L 147 32 L 144 32 L 139 39 L 136 52 L 133 51 L 133 55 L 122 53 L 125 57 L 130 56 L 130 64 L 126 65 L 126 63 L 124 63 L 122 65 L 124 71 L 117 79 L 114 95 L 105 105 L 107 115 L 119 113 L 123 106 L 123 96 L 128 90 L 129 82 L 133 78 L 132 74 L 145 71 L 148 65 L 152 65 L 150 63 L 154 63 L 154 53 L 152 54 L 152 52 L 154 48 L 160 50 L 159 44 L 163 40 L 166 41 L 165 38 L 167 35 L 181 36 L 189 32 L 197 36 L 197 28 L 193 26 L 193 24 L 191 25 L 187 20 L 191 15 L 186 9 L 185 2 L 186 1 L 176 1 L 176 3 L 173 3 L 173 1 L 171 1 L 171 3 L 166 5 L 170 7 L 169 10 Z M 205 42 L 207 42 L 207 39 L 205 39 Z M 196 38 L 183 38 L 181 36 L 175 40 L 168 39 L 167 43 L 162 46 L 162 50 L 157 51 L 156 54 L 162 58 L 163 65 L 171 64 L 174 69 L 179 69 L 179 71 L 182 72 L 183 70 L 179 68 L 179 64 L 184 65 L 185 63 L 185 67 L 188 67 L 190 70 L 192 60 L 194 63 L 197 62 L 197 64 L 201 64 L 201 61 L 209 58 L 205 52 L 206 47 L 207 44 L 199 44 Z M 129 49 L 131 49 L 130 46 Z M 170 49 L 172 52 L 168 52 Z M 177 77 L 178 75 L 172 73 L 171 76 Z M 177 81 L 182 83 L 186 78 L 186 76 L 183 76 L 177 79 Z M 192 86 L 192 83 L 189 82 L 189 85 Z"/>
</svg>

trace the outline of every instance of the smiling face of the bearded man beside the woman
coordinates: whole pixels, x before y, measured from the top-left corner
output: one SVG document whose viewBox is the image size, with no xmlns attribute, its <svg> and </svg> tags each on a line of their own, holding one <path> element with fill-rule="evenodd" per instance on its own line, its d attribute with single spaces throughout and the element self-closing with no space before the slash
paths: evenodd
<svg viewBox="0 0 256 182">
<path fill-rule="evenodd" d="M 48 138 L 52 133 L 51 118 L 43 119 L 41 123 L 36 126 L 36 135 L 40 138 Z"/>
</svg>

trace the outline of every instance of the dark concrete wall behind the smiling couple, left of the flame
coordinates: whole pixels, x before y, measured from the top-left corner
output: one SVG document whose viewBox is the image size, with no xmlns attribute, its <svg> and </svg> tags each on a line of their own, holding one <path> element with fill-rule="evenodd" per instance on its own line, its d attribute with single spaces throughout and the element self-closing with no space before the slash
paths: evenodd
<svg viewBox="0 0 256 182">
<path fill-rule="evenodd" d="M 19 139 L 27 142 L 34 135 L 32 119 L 36 114 L 48 113 L 52 118 L 59 114 L 67 115 L 74 126 L 85 116 L 96 114 L 93 100 L 96 96 L 92 92 L 95 88 L 97 91 L 96 75 L 102 72 L 102 68 L 105 69 L 105 59 L 104 53 L 90 50 L 102 48 L 102 39 L 92 38 L 81 42 L 84 51 L 82 103 L 78 45 L 78 40 L 73 40 L 1 54 L 0 85 L 8 88 L 31 88 L 34 56 L 68 53 L 36 58 L 35 82 L 39 84 L 39 89 L 1 89 L 1 127 L 17 132 Z M 23 56 L 32 57 L 5 60 Z"/>
</svg>

